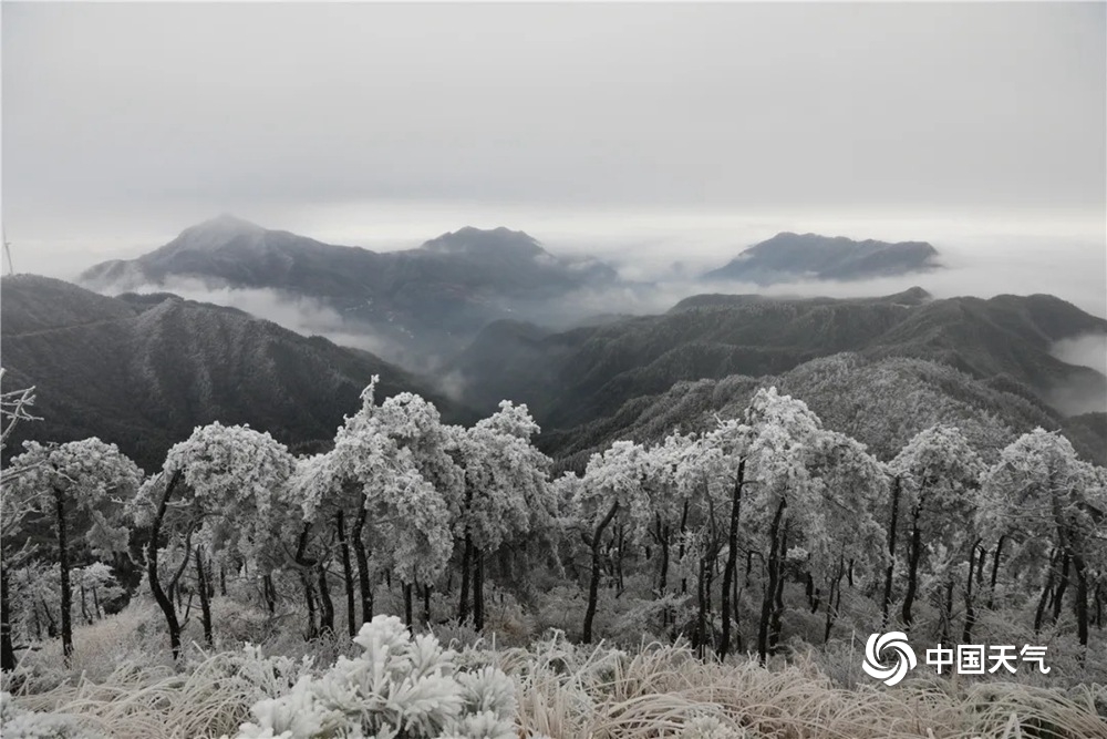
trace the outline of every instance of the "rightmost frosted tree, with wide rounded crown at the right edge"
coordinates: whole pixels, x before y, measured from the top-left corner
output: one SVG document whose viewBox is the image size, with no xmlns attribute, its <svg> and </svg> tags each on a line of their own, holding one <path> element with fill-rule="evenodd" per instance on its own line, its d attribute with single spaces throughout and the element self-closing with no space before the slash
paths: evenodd
<svg viewBox="0 0 1107 739">
<path fill-rule="evenodd" d="M 997 555 L 999 543 L 1010 543 L 1012 568 L 1042 573 L 1035 630 L 1051 598 L 1059 610 L 1073 573 L 1077 634 L 1087 647 L 1093 573 L 1107 571 L 1107 472 L 1077 459 L 1064 437 L 1035 429 L 987 472 L 976 520 Z"/>
</svg>

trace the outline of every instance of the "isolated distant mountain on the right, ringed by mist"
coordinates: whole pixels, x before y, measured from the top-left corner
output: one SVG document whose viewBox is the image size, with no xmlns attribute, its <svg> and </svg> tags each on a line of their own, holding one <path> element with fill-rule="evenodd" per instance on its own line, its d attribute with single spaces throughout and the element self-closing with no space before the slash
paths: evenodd
<svg viewBox="0 0 1107 739">
<path fill-rule="evenodd" d="M 859 280 L 928 271 L 939 266 L 938 249 L 925 242 L 891 244 L 845 236 L 784 232 L 743 250 L 707 280 L 734 280 L 756 285 L 797 279 Z"/>
</svg>

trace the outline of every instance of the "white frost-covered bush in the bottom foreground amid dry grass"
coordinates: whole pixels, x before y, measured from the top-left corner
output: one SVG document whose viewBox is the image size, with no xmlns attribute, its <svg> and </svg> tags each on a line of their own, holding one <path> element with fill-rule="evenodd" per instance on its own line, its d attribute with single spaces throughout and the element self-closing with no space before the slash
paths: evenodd
<svg viewBox="0 0 1107 739">
<path fill-rule="evenodd" d="M 356 658 L 255 704 L 238 739 L 515 738 L 515 682 L 501 670 L 462 671 L 454 651 L 433 635 L 412 638 L 395 616 L 375 617 L 354 643 Z"/>
</svg>

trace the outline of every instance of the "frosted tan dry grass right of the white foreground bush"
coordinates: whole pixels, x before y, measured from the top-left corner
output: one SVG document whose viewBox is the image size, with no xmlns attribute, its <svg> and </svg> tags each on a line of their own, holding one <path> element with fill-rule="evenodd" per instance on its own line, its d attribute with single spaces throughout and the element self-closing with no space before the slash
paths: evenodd
<svg viewBox="0 0 1107 739">
<path fill-rule="evenodd" d="M 625 654 L 554 642 L 529 661 L 519 650 L 498 663 L 519 681 L 521 729 L 567 739 L 686 736 L 703 717 L 723 728 L 710 736 L 743 739 L 1107 739 L 1096 712 L 1096 695 L 1107 700 L 1101 687 L 1085 688 L 1082 699 L 995 682 L 844 689 L 809 660 L 773 670 L 749 660 L 705 664 L 661 645 Z"/>
</svg>

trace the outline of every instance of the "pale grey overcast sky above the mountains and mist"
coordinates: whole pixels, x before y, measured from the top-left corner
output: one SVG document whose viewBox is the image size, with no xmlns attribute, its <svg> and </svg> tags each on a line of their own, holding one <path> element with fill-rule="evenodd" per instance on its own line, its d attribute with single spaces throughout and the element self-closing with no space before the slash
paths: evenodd
<svg viewBox="0 0 1107 739">
<path fill-rule="evenodd" d="M 1053 224 L 1104 248 L 1101 2 L 0 12 L 21 270 L 134 256 L 221 212 L 376 247 L 817 213 Z"/>
</svg>

